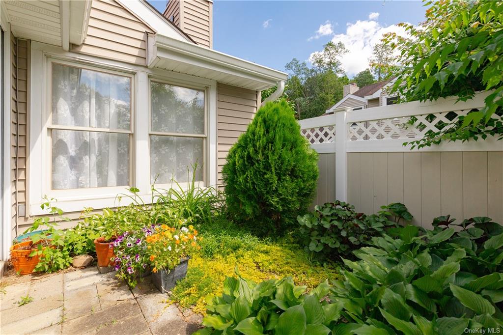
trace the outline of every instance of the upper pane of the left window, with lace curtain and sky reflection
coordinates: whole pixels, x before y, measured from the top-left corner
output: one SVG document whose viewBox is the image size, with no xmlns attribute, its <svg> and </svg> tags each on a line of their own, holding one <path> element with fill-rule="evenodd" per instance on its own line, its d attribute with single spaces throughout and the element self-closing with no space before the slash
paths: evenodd
<svg viewBox="0 0 503 335">
<path fill-rule="evenodd" d="M 53 64 L 52 123 L 130 129 L 131 78 Z"/>
</svg>

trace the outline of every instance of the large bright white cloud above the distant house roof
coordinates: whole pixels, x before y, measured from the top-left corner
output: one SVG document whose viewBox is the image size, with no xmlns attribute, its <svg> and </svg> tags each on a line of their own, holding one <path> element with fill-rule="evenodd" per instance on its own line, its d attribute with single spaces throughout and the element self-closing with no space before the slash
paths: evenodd
<svg viewBox="0 0 503 335">
<path fill-rule="evenodd" d="M 381 26 L 377 21 L 365 20 L 346 25 L 346 32 L 343 34 L 332 35 L 332 42 L 342 42 L 348 49 L 348 53 L 341 57 L 343 69 L 348 76 L 365 70 L 369 66 L 369 58 L 375 44 L 381 41 L 383 34 L 395 32 L 405 36 L 405 29 L 397 25 L 388 27 Z M 312 55 L 309 59 L 312 59 Z"/>
</svg>

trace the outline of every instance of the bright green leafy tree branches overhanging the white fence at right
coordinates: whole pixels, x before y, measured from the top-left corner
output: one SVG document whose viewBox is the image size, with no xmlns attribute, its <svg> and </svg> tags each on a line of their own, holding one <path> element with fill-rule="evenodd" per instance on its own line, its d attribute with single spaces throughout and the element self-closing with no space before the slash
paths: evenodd
<svg viewBox="0 0 503 335">
<path fill-rule="evenodd" d="M 385 43 L 398 51 L 396 81 L 391 87 L 402 101 L 457 96 L 472 99 L 490 91 L 485 106 L 429 131 L 412 142 L 430 146 L 443 140 L 469 140 L 489 135 L 503 138 L 503 2 L 437 1 L 427 3 L 420 27 L 401 24 L 409 37 L 390 33 Z"/>
</svg>

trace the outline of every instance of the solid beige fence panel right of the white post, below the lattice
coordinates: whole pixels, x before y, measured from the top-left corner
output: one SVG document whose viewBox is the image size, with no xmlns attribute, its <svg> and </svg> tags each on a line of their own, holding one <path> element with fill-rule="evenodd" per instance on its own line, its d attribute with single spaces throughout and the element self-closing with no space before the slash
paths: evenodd
<svg viewBox="0 0 503 335">
<path fill-rule="evenodd" d="M 503 222 L 503 151 L 348 153 L 348 201 L 364 213 L 404 203 L 426 228 L 447 214 Z"/>
</svg>

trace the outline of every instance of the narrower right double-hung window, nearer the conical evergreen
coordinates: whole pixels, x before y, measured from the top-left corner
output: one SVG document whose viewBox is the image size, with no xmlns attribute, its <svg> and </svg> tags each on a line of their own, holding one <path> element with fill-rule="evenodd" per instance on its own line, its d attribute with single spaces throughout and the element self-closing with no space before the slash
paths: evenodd
<svg viewBox="0 0 503 335">
<path fill-rule="evenodd" d="M 150 81 L 150 183 L 205 180 L 205 91 Z M 190 173 L 188 172 L 190 171 Z"/>
</svg>

